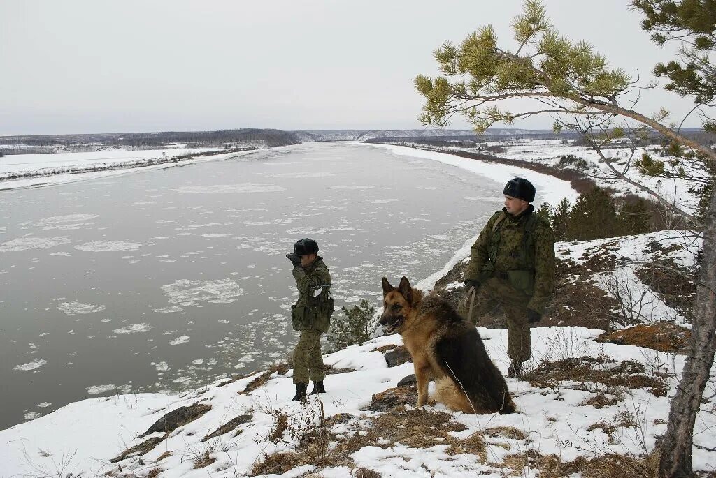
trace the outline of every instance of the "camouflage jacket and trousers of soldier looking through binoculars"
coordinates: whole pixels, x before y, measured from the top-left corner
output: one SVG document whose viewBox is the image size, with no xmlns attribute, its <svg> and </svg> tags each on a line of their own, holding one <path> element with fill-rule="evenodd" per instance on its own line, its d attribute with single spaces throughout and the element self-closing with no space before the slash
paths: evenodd
<svg viewBox="0 0 716 478">
<path fill-rule="evenodd" d="M 323 259 L 308 267 L 294 267 L 291 272 L 299 289 L 299 299 L 291 307 L 294 330 L 301 332 L 294 349 L 294 384 L 323 382 L 326 377 L 321 357 L 321 334 L 328 332 L 333 299 L 330 298 L 331 274 Z M 316 291 L 321 293 L 314 297 Z"/>
</svg>

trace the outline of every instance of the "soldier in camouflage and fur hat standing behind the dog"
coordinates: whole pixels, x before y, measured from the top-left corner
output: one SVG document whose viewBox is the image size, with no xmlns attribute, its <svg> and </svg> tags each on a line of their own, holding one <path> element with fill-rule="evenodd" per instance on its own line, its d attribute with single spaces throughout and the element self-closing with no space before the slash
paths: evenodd
<svg viewBox="0 0 716 478">
<path fill-rule="evenodd" d="M 535 188 L 527 179 L 508 181 L 505 207 L 490 217 L 473 244 L 458 312 L 477 317 L 502 306 L 507 317 L 508 377 L 520 377 L 531 356 L 530 324 L 539 322 L 554 288 L 554 236 L 534 214 Z M 474 306 L 474 309 L 473 309 Z"/>
</svg>

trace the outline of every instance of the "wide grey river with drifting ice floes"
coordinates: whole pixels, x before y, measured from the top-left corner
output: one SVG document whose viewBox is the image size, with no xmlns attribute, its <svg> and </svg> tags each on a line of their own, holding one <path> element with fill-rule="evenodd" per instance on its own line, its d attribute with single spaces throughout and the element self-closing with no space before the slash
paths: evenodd
<svg viewBox="0 0 716 478">
<path fill-rule="evenodd" d="M 296 239 L 319 242 L 337 307 L 379 307 L 383 276 L 415 283 L 441 269 L 501 191 L 339 143 L 0 191 L 0 429 L 285 359 Z"/>
</svg>

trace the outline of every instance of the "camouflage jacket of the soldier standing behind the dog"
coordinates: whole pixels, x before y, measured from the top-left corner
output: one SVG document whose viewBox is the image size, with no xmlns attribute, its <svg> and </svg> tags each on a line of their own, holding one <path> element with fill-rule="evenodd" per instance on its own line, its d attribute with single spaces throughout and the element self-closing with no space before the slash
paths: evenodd
<svg viewBox="0 0 716 478">
<path fill-rule="evenodd" d="M 530 205 L 518 216 L 508 214 L 504 208 L 495 212 L 473 244 L 465 279 L 505 279 L 530 297 L 528 308 L 543 314 L 554 289 L 554 235 L 547 221 L 533 211 Z M 495 222 L 503 214 L 504 219 L 495 229 Z M 529 234 L 525 229 L 530 216 L 534 216 L 531 239 L 529 235 L 525 237 Z"/>
</svg>

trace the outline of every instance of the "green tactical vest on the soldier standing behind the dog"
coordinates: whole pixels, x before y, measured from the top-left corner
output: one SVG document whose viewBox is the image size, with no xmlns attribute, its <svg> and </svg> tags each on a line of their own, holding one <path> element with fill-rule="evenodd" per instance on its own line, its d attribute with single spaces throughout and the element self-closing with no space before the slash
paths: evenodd
<svg viewBox="0 0 716 478">
<path fill-rule="evenodd" d="M 493 224 L 492 236 L 490 237 L 490 242 L 488 244 L 488 262 L 485 264 L 479 280 L 480 282 L 484 282 L 493 276 L 499 277 L 500 279 L 506 279 L 512 287 L 518 291 L 524 292 L 528 296 L 531 296 L 534 294 L 535 282 L 535 247 L 534 237 L 532 234 L 537 221 L 541 219 L 533 212 L 527 216 L 526 221 L 524 221 L 522 226 L 524 234 L 522 236 L 520 255 L 518 257 L 519 269 L 497 272 L 495 271 L 495 264 L 497 262 L 497 254 L 500 247 L 500 232 L 505 219 L 507 219 L 507 214 L 505 214 L 505 211 L 502 211 Z"/>
</svg>

